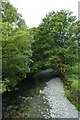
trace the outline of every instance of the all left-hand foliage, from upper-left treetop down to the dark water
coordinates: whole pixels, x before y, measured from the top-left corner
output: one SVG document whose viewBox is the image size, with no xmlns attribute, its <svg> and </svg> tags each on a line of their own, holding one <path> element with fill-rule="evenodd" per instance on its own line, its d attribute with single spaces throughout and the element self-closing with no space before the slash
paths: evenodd
<svg viewBox="0 0 80 120">
<path fill-rule="evenodd" d="M 13 88 L 19 80 L 25 78 L 26 74 L 30 72 L 32 37 L 26 24 L 23 24 L 22 18 L 17 14 L 16 9 L 9 2 L 5 2 L 3 8 L 3 21 L 0 21 L 0 31 L 2 31 L 0 36 L 3 38 L 2 75 L 3 81 L 9 80 L 9 84 L 6 82 L 8 90 Z M 11 13 L 13 13 L 13 17 L 9 16 Z M 21 26 L 17 24 L 18 22 Z"/>
</svg>

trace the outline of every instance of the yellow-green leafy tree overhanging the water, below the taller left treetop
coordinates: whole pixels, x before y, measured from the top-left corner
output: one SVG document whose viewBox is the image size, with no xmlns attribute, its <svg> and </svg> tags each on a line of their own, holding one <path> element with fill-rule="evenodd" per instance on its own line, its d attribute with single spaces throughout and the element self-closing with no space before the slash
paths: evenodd
<svg viewBox="0 0 80 120">
<path fill-rule="evenodd" d="M 28 31 L 13 29 L 9 23 L 4 23 L 2 29 L 3 76 L 10 80 L 12 86 L 15 86 L 16 79 L 24 78 L 30 71 L 32 55 L 30 35 Z"/>
</svg>

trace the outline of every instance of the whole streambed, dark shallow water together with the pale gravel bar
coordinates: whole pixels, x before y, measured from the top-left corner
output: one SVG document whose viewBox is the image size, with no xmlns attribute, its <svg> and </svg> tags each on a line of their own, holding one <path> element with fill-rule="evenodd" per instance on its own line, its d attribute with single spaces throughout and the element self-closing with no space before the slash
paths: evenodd
<svg viewBox="0 0 80 120">
<path fill-rule="evenodd" d="M 3 94 L 3 119 L 78 118 L 78 111 L 65 96 L 63 82 L 24 82 L 20 90 Z"/>
</svg>

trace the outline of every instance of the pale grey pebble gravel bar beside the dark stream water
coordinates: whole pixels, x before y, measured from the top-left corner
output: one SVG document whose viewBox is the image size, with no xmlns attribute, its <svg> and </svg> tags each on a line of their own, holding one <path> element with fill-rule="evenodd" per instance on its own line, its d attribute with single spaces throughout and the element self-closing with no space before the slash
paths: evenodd
<svg viewBox="0 0 80 120">
<path fill-rule="evenodd" d="M 60 78 L 53 78 L 47 82 L 44 91 L 45 98 L 51 107 L 51 118 L 78 118 L 78 111 L 65 96 L 63 82 Z"/>
</svg>

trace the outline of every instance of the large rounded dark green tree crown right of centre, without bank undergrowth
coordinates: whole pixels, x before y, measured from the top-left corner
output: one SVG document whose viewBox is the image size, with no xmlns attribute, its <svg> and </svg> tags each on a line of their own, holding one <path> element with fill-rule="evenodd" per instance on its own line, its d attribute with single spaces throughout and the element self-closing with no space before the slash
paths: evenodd
<svg viewBox="0 0 80 120">
<path fill-rule="evenodd" d="M 34 28 L 32 70 L 55 68 L 69 73 L 70 67 L 78 61 L 78 32 L 76 18 L 71 12 L 51 12 Z"/>
</svg>

